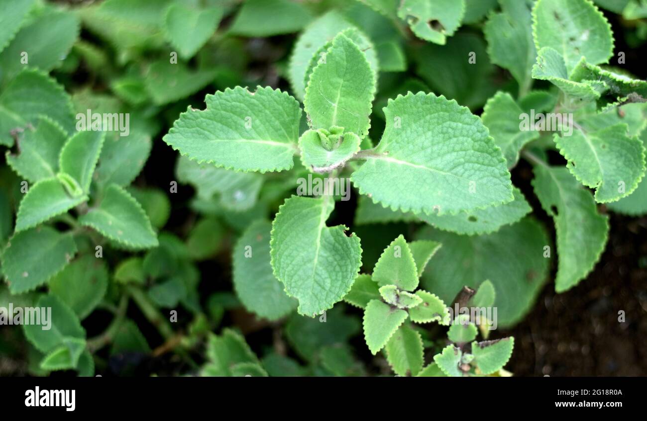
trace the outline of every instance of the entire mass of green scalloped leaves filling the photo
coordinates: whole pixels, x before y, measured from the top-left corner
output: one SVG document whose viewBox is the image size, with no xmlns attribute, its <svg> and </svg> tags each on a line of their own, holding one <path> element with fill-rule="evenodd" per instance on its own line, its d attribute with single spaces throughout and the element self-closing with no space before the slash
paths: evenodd
<svg viewBox="0 0 647 421">
<path fill-rule="evenodd" d="M 0 307 L 51 307 L 56 327 L 22 329 L 31 373 L 93 375 L 107 345 L 109 356 L 150 353 L 134 303 L 162 351 L 202 375 L 366 375 L 349 344 L 362 323 L 345 302 L 364 310 L 368 351 L 384 350 L 397 375 L 505 375 L 514 339 L 476 342 L 446 303 L 472 287 L 468 304 L 496 296 L 510 327 L 551 265 L 558 292 L 593 270 L 607 209 L 647 213 L 647 82 L 622 69 L 597 7 L 635 22 L 639 45 L 643 3 L 238 3 L 0 1 Z M 281 36 L 296 32 L 284 60 Z M 80 130 L 77 113 L 127 114 L 129 132 Z M 572 133 L 521 127 L 545 113 Z M 148 164 L 153 187 L 140 172 L 160 138 L 179 156 L 172 174 Z M 558 155 L 566 165 L 549 163 Z M 512 185 L 520 159 L 556 252 Z M 339 195 L 305 197 L 300 180 L 352 181 L 355 232 L 327 225 L 343 218 Z M 171 225 L 183 205 L 170 199 L 188 186 L 191 216 Z M 198 266 L 223 254 L 233 291 L 205 286 Z M 258 358 L 234 329 L 215 334 L 239 307 L 285 331 L 306 364 L 282 340 Z M 113 321 L 87 338 L 95 311 Z M 431 322 L 449 325 L 448 341 Z"/>
</svg>

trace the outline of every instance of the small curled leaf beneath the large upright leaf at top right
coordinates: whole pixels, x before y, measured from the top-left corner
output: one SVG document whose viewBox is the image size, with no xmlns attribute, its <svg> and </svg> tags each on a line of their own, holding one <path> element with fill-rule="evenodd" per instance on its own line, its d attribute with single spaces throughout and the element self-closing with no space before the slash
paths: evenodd
<svg viewBox="0 0 647 421">
<path fill-rule="evenodd" d="M 600 91 L 606 88 L 601 81 L 592 84 L 569 80 L 564 57 L 548 46 L 539 50 L 537 63 L 532 67 L 532 77 L 549 81 L 570 98 L 581 101 L 600 98 Z"/>
</svg>

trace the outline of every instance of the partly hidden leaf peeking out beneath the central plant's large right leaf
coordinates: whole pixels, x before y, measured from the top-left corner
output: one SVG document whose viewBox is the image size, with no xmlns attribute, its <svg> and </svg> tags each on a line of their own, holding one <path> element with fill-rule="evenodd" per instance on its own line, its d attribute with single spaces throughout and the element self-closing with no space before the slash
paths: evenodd
<svg viewBox="0 0 647 421">
<path fill-rule="evenodd" d="M 497 231 L 503 225 L 515 223 L 529 214 L 532 208 L 523 197 L 521 190 L 513 187 L 514 200 L 498 206 L 490 206 L 475 211 L 460 212 L 455 215 L 426 215 L 419 217 L 432 227 L 457 234 L 480 235 Z"/>
</svg>

